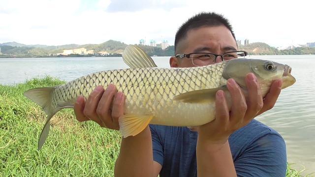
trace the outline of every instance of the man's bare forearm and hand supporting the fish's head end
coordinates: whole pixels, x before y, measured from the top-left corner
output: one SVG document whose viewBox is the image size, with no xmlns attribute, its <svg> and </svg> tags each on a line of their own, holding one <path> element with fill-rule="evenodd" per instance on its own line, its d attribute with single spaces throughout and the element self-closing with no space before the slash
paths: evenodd
<svg viewBox="0 0 315 177">
<path fill-rule="evenodd" d="M 229 112 L 224 92 L 219 90 L 216 94 L 216 119 L 197 127 L 196 155 L 199 177 L 207 177 L 209 174 L 236 177 L 228 137 L 247 125 L 257 114 L 273 107 L 280 94 L 282 82 L 276 81 L 272 84 L 265 101 L 253 74 L 248 74 L 246 84 L 249 90 L 248 100 L 235 81 L 229 79 L 227 88 L 232 98 L 231 111 Z"/>
</svg>

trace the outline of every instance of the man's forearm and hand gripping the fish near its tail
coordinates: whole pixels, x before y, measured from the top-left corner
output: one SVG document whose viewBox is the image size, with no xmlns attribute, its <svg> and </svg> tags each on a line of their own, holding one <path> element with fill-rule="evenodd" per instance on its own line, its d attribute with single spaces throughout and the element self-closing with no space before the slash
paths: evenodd
<svg viewBox="0 0 315 177">
<path fill-rule="evenodd" d="M 109 85 L 106 90 L 98 86 L 86 102 L 82 96 L 77 99 L 74 112 L 79 121 L 93 120 L 102 127 L 119 130 L 118 118 L 124 115 L 124 104 L 124 94 L 117 92 L 114 85 Z M 161 168 L 159 163 L 153 161 L 149 126 L 134 137 L 122 139 L 115 163 L 115 176 L 157 177 Z"/>
</svg>

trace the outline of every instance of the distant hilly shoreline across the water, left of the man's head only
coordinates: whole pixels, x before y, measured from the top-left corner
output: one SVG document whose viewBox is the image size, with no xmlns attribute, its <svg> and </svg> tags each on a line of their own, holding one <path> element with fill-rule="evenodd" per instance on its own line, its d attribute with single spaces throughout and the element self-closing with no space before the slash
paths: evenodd
<svg viewBox="0 0 315 177">
<path fill-rule="evenodd" d="M 77 57 L 77 56 L 121 56 L 127 44 L 108 40 L 101 44 L 67 44 L 60 46 L 25 45 L 17 42 L 0 44 L 1 57 Z M 174 55 L 174 46 L 165 50 L 158 47 L 139 45 L 145 52 L 153 56 Z"/>
</svg>

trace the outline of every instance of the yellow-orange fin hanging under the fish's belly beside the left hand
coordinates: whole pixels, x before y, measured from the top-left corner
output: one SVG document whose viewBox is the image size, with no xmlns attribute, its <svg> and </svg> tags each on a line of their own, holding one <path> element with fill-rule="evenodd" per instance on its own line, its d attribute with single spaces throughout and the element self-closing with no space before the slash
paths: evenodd
<svg viewBox="0 0 315 177">
<path fill-rule="evenodd" d="M 143 131 L 153 115 L 124 115 L 119 118 L 120 132 L 124 138 L 135 136 Z"/>
</svg>

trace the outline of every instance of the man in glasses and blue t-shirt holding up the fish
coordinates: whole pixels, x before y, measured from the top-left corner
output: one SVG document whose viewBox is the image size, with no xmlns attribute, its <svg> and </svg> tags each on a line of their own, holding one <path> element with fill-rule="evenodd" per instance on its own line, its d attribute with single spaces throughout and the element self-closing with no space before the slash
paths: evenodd
<svg viewBox="0 0 315 177">
<path fill-rule="evenodd" d="M 180 54 L 208 53 L 207 56 L 215 56 L 208 60 L 211 64 L 221 62 L 224 54 L 231 51 L 237 51 L 237 44 L 229 22 L 216 13 L 200 13 L 177 31 L 175 57 L 170 58 L 170 65 L 196 65 L 193 57 Z M 218 91 L 216 119 L 196 127 L 196 131 L 187 127 L 150 125 L 134 137 L 123 138 L 115 176 L 285 176 L 283 138 L 275 130 L 253 120 L 274 106 L 282 81 L 275 81 L 264 99 L 252 73 L 247 75 L 246 83 L 249 89 L 247 100 L 235 81 L 229 79 L 231 111 L 227 108 L 224 92 Z M 124 100 L 124 94 L 117 92 L 113 85 L 106 90 L 97 87 L 86 103 L 83 97 L 78 98 L 75 114 L 79 121 L 91 119 L 103 127 L 118 130 L 118 118 L 124 114 Z"/>
</svg>

